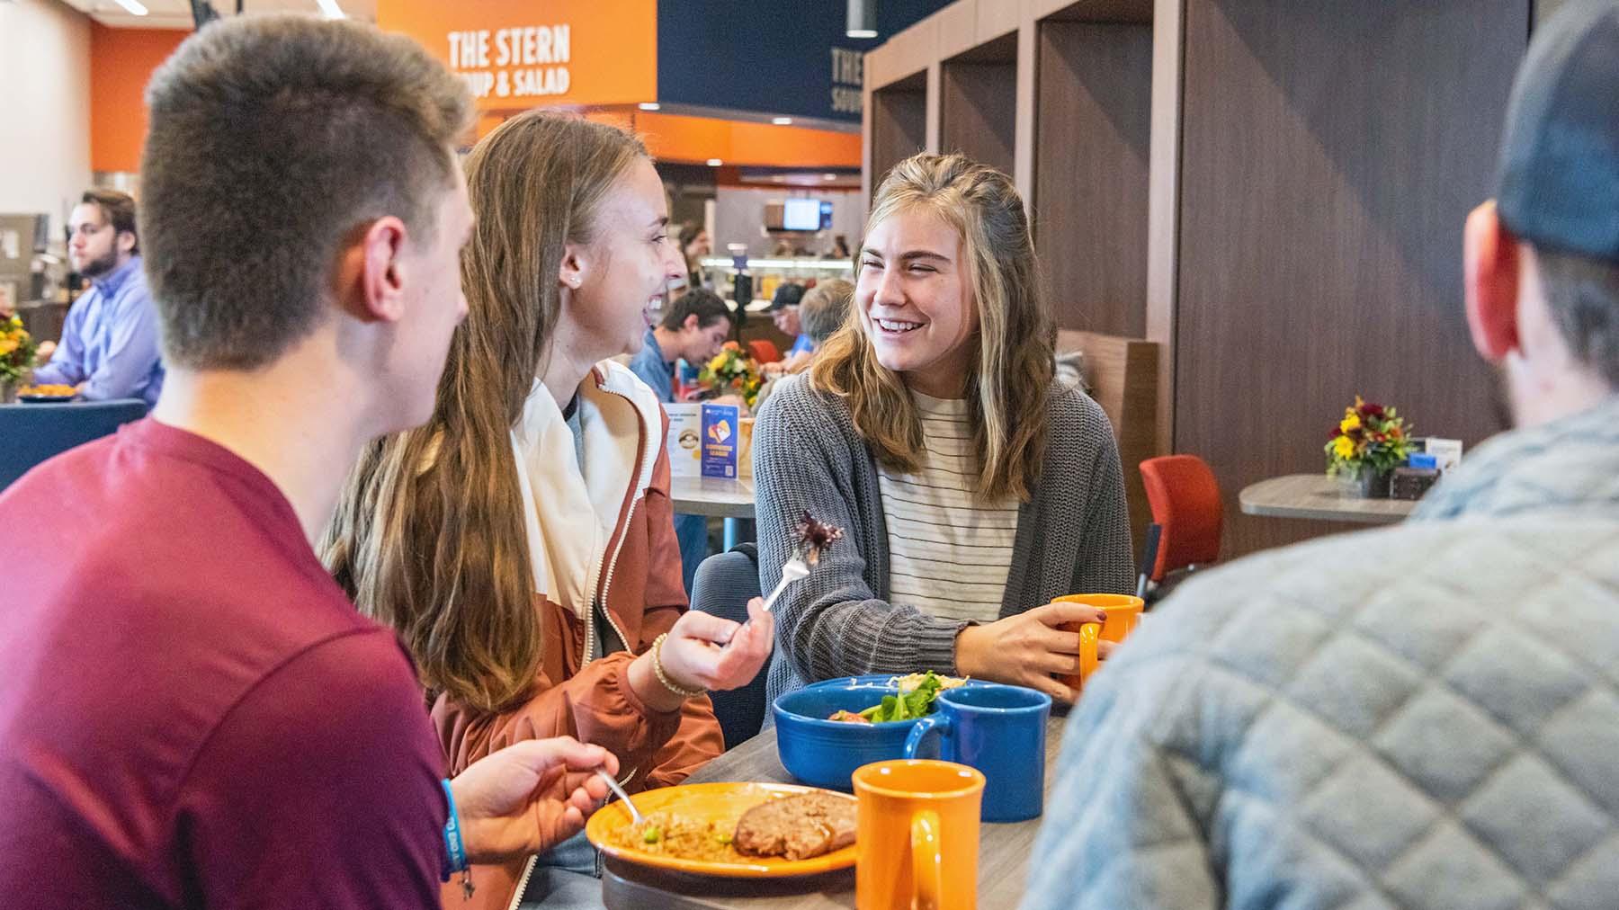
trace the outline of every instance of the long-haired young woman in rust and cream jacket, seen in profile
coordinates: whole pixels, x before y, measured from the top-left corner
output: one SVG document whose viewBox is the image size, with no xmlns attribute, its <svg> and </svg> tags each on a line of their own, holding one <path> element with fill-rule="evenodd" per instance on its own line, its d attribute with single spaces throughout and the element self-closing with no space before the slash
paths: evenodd
<svg viewBox="0 0 1619 910">
<path fill-rule="evenodd" d="M 364 453 L 327 565 L 410 646 L 452 774 L 570 734 L 631 792 L 675 784 L 722 751 L 703 691 L 751 680 L 774 627 L 758 602 L 746 625 L 686 612 L 667 416 L 607 359 L 683 269 L 662 181 L 625 131 L 534 112 L 473 149 L 466 185 L 468 317 L 434 416 Z M 547 865 L 588 873 L 594 853 Z M 474 870 L 479 904 L 526 878 Z"/>
</svg>

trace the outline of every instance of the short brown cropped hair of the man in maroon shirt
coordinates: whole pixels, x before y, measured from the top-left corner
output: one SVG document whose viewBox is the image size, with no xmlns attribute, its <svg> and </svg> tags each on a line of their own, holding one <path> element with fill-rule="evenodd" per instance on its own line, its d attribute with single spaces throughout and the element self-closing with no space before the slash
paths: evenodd
<svg viewBox="0 0 1619 910">
<path fill-rule="evenodd" d="M 421 45 L 312 16 L 217 21 L 146 89 L 141 236 L 164 353 L 256 369 L 325 317 L 340 249 L 384 215 L 431 241 L 471 125 Z"/>
</svg>

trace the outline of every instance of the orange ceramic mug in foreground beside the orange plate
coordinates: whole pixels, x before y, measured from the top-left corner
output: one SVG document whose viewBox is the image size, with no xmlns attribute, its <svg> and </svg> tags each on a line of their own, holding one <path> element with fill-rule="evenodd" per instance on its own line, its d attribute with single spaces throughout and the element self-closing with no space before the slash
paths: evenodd
<svg viewBox="0 0 1619 910">
<path fill-rule="evenodd" d="M 855 798 L 860 910 L 978 905 L 983 772 L 950 761 L 876 761 L 855 769 Z"/>
</svg>

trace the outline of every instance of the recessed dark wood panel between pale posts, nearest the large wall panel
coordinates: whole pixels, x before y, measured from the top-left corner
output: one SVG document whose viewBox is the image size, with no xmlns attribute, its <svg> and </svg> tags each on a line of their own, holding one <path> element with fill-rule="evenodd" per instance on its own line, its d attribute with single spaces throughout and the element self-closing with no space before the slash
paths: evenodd
<svg viewBox="0 0 1619 910">
<path fill-rule="evenodd" d="M 1146 335 L 1153 26 L 1044 21 L 1035 87 L 1035 248 L 1057 325 Z"/>
</svg>

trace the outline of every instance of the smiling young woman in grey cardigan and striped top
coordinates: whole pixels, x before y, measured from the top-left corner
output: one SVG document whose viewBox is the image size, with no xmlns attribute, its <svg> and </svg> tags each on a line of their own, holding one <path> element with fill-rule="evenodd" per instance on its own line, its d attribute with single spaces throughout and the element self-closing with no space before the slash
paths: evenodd
<svg viewBox="0 0 1619 910">
<path fill-rule="evenodd" d="M 877 188 L 848 321 L 754 427 L 761 585 L 805 512 L 845 539 L 777 601 L 771 695 L 939 670 L 1028 685 L 1078 665 L 1073 593 L 1128 593 L 1112 427 L 1054 379 L 1023 201 L 962 155 Z"/>
</svg>

